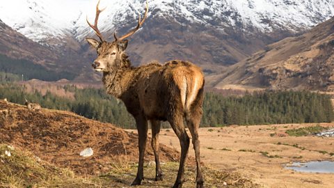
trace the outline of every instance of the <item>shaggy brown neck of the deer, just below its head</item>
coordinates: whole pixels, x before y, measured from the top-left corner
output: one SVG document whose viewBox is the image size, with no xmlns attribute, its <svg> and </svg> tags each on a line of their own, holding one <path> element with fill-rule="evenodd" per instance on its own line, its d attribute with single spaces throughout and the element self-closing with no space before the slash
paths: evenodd
<svg viewBox="0 0 334 188">
<path fill-rule="evenodd" d="M 120 68 L 115 72 L 105 72 L 102 81 L 106 92 L 114 97 L 121 98 L 132 84 L 132 68 Z"/>
</svg>

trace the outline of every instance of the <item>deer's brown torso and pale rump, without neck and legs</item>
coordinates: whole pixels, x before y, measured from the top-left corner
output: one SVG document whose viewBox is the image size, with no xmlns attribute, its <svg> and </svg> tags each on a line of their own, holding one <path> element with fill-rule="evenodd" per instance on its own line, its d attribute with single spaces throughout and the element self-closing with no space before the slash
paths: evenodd
<svg viewBox="0 0 334 188">
<path fill-rule="evenodd" d="M 202 97 L 198 91 L 203 86 L 202 71 L 193 63 L 169 61 L 154 65 L 138 79 L 138 105 L 149 118 L 166 120 L 168 116 L 190 109 L 191 104 Z"/>
</svg>

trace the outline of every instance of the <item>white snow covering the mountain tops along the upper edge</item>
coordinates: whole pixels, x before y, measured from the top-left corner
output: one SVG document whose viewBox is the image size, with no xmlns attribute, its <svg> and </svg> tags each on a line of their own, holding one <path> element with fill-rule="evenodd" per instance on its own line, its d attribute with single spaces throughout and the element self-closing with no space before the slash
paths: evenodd
<svg viewBox="0 0 334 188">
<path fill-rule="evenodd" d="M 47 38 L 73 36 L 77 40 L 91 34 L 86 23 L 95 17 L 95 0 L 11 0 L 0 4 L 0 19 L 36 42 Z M 149 17 L 173 17 L 179 24 L 197 22 L 224 30 L 276 29 L 292 32 L 309 29 L 334 15 L 334 0 L 149 0 Z M 143 13 L 145 0 L 102 0 L 102 31 L 113 32 L 135 24 Z M 129 19 L 131 18 L 131 19 Z M 189 22 L 189 23 L 187 23 Z"/>
</svg>

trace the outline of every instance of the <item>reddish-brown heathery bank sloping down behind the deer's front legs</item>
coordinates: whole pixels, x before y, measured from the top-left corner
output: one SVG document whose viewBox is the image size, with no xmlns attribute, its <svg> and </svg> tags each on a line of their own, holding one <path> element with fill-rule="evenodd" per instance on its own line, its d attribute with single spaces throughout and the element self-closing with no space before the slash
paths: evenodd
<svg viewBox="0 0 334 188">
<path fill-rule="evenodd" d="M 109 171 L 113 162 L 138 159 L 137 135 L 111 124 L 66 111 L 29 111 L 3 100 L 0 110 L 0 141 L 26 148 L 51 164 L 81 174 L 98 174 Z M 94 155 L 80 157 L 79 152 L 87 147 L 93 148 Z M 160 150 L 162 160 L 177 160 L 175 150 L 164 145 Z M 151 147 L 147 147 L 145 157 L 154 159 Z"/>
</svg>

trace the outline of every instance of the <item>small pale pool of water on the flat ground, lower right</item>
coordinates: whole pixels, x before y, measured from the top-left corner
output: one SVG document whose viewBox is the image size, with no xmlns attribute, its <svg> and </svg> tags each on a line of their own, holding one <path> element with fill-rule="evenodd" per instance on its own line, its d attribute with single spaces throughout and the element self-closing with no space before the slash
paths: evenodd
<svg viewBox="0 0 334 188">
<path fill-rule="evenodd" d="M 334 162 L 294 162 L 285 166 L 285 169 L 305 173 L 334 173 Z"/>
</svg>

